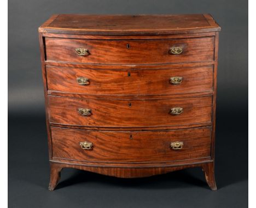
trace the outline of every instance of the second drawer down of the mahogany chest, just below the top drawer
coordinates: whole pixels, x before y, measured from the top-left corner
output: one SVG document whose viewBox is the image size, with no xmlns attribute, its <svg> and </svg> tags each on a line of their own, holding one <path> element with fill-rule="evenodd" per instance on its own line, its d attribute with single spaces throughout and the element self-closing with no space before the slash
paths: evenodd
<svg viewBox="0 0 256 208">
<path fill-rule="evenodd" d="M 48 92 L 164 95 L 213 89 L 213 66 L 158 70 L 101 70 L 46 66 Z"/>
</svg>

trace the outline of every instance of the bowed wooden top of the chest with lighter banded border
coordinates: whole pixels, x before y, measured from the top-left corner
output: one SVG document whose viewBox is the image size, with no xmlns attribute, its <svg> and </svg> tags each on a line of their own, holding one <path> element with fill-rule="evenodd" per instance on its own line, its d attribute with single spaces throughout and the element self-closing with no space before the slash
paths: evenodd
<svg viewBox="0 0 256 208">
<path fill-rule="evenodd" d="M 179 34 L 219 31 L 210 14 L 85 15 L 57 14 L 39 32 L 94 35 Z"/>
</svg>

